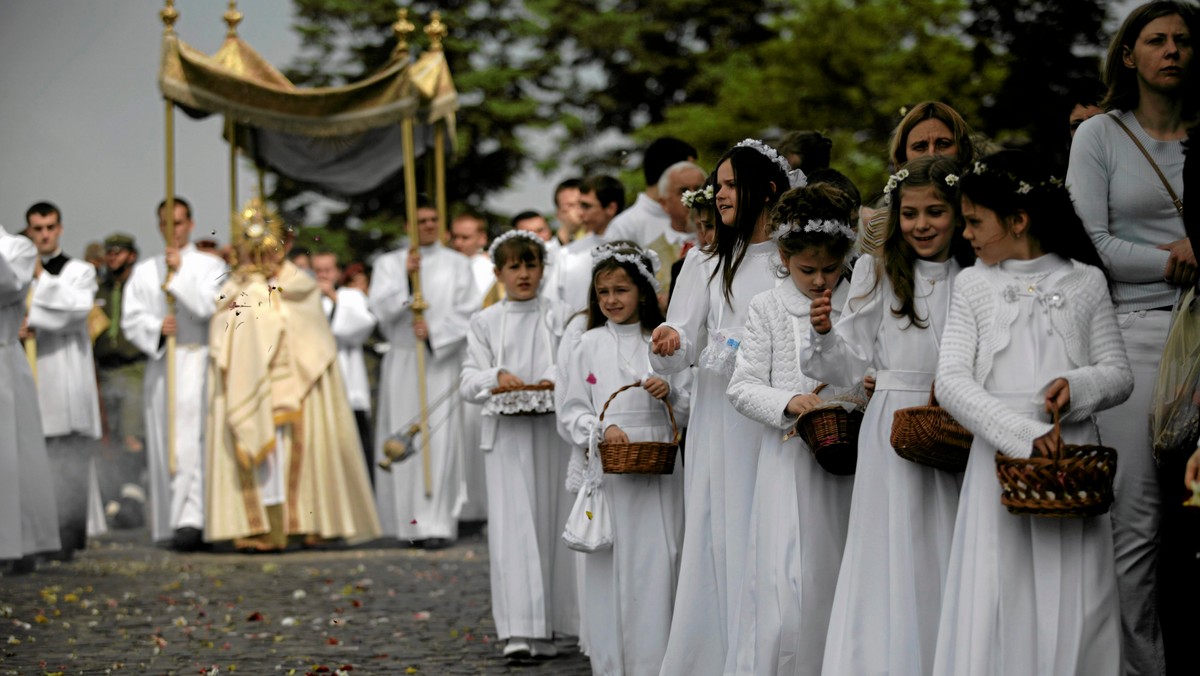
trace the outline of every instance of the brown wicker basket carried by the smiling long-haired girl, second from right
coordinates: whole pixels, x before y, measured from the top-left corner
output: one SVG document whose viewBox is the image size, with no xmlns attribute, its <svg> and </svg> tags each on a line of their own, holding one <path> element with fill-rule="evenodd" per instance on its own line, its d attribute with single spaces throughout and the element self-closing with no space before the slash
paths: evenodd
<svg viewBox="0 0 1200 676">
<path fill-rule="evenodd" d="M 937 405 L 932 385 L 928 406 L 900 408 L 892 419 L 892 448 L 896 455 L 926 467 L 946 472 L 966 469 L 972 441 L 971 431 Z"/>
</svg>

